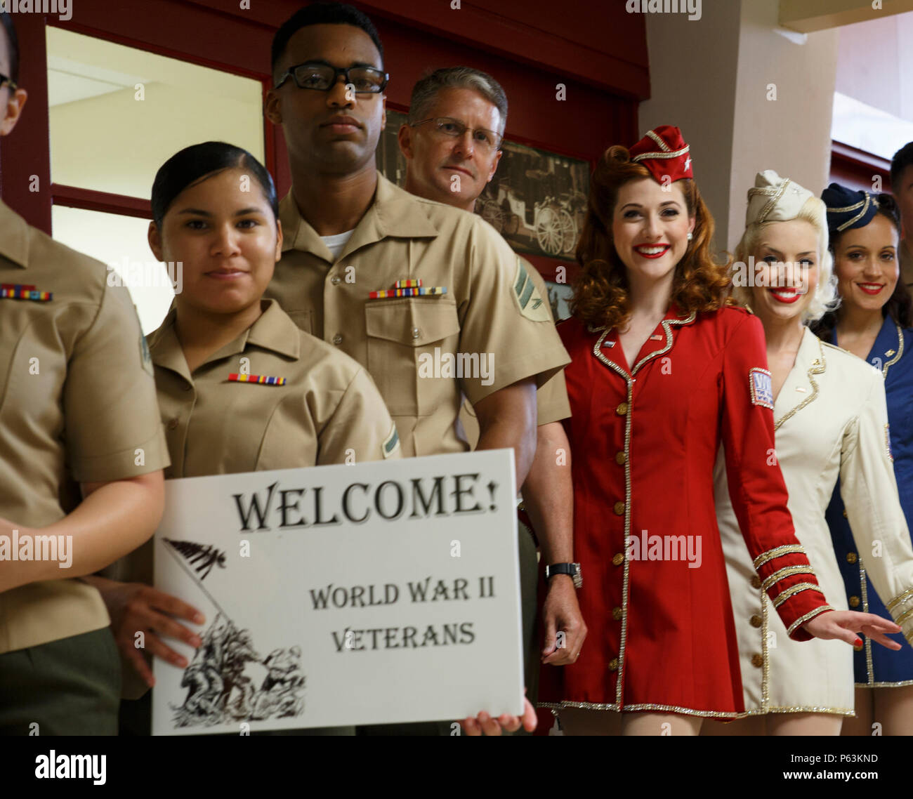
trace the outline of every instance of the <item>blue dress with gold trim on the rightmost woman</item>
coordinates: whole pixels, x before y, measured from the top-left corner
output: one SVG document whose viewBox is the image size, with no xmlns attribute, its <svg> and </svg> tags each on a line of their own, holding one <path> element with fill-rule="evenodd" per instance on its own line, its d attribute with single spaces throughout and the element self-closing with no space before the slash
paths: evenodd
<svg viewBox="0 0 913 799">
<path fill-rule="evenodd" d="M 834 331 L 834 344 L 837 344 L 836 338 Z M 890 317 L 886 317 L 866 360 L 881 369 L 885 376 L 894 476 L 897 478 L 900 505 L 907 518 L 907 526 L 913 529 L 913 329 L 904 330 Z M 850 609 L 890 618 L 882 598 L 876 594 L 860 567 L 860 555 L 864 560 L 868 553 L 855 550 L 853 533 L 840 498 L 839 482 L 825 518 L 834 539 L 834 552 L 844 578 Z M 865 643 L 860 651 L 854 653 L 857 687 L 913 685 L 913 647 L 908 646 L 902 634 L 890 636 L 901 645 L 899 652 L 872 646 L 866 636 L 860 637 Z"/>
</svg>

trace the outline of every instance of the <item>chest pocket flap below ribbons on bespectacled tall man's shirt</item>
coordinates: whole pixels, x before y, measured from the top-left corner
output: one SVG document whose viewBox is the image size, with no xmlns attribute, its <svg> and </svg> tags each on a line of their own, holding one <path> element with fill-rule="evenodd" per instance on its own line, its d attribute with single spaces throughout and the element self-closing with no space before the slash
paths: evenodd
<svg viewBox="0 0 913 799">
<path fill-rule="evenodd" d="M 364 307 L 366 331 L 375 339 L 420 347 L 460 331 L 453 300 L 381 300 Z"/>
</svg>

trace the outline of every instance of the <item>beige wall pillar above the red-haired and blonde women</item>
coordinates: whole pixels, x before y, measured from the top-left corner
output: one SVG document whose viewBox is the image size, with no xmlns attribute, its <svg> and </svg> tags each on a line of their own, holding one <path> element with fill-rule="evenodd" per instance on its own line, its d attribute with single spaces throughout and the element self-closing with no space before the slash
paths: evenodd
<svg viewBox="0 0 913 799">
<path fill-rule="evenodd" d="M 682 129 L 717 246 L 729 250 L 755 173 L 774 169 L 818 194 L 830 168 L 837 33 L 783 36 L 778 9 L 778 0 L 704 0 L 696 21 L 647 18 L 652 97 L 640 107 L 641 132 Z"/>
</svg>

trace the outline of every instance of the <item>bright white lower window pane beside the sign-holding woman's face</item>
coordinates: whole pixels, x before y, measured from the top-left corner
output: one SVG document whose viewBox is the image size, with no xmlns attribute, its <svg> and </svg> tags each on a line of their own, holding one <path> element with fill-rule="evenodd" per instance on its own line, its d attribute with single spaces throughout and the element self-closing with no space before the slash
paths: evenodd
<svg viewBox="0 0 913 799">
<path fill-rule="evenodd" d="M 110 285 L 130 289 L 144 333 L 162 323 L 174 297 L 173 282 L 146 242 L 147 219 L 55 205 L 51 225 L 59 242 L 108 267 Z M 180 288 L 183 273 L 175 268 L 173 276 Z"/>
</svg>

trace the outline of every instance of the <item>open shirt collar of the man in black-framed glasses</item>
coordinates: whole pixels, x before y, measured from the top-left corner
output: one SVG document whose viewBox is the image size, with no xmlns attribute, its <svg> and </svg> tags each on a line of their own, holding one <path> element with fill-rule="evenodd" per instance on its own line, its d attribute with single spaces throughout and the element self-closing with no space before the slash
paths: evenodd
<svg viewBox="0 0 913 799">
<path fill-rule="evenodd" d="M 419 200 L 378 173 L 373 201 L 355 227 L 352 237 L 340 253 L 340 258 L 359 247 L 365 247 L 386 237 L 436 237 L 437 228 L 421 208 L 425 202 L 428 201 Z M 330 249 L 310 223 L 301 216 L 291 190 L 279 203 L 279 220 L 283 233 L 282 252 L 297 249 L 333 263 Z"/>
</svg>

